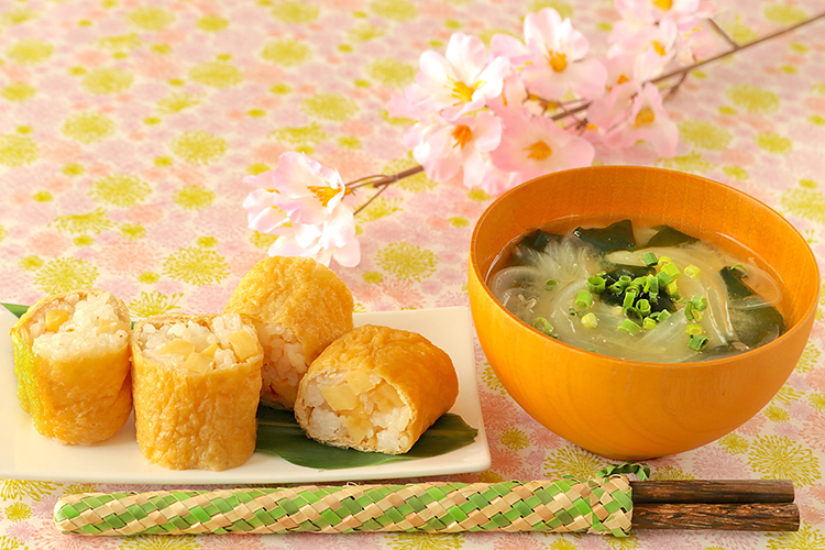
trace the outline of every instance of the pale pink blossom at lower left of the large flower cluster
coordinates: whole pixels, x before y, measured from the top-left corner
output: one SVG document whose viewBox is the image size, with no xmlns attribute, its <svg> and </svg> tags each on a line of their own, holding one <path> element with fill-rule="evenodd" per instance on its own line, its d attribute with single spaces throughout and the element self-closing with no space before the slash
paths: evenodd
<svg viewBox="0 0 825 550">
<path fill-rule="evenodd" d="M 427 177 L 447 182 L 463 173 L 465 186 L 477 185 L 484 177 L 485 153 L 501 143 L 501 119 L 480 111 L 453 122 L 442 119 L 433 127 L 413 150 Z"/>
</svg>

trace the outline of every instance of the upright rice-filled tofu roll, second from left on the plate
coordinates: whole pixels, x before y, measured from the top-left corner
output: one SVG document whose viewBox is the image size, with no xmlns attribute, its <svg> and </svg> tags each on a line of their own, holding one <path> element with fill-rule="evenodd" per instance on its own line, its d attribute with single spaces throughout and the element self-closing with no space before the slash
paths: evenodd
<svg viewBox="0 0 825 550">
<path fill-rule="evenodd" d="M 255 450 L 263 353 L 234 314 L 150 317 L 132 332 L 138 444 L 172 470 L 227 470 Z"/>
</svg>

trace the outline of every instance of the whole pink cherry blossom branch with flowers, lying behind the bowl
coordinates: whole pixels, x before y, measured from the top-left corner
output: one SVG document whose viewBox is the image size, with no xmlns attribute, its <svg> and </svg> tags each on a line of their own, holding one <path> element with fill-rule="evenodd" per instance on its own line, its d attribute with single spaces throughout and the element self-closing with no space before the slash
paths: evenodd
<svg viewBox="0 0 825 550">
<path fill-rule="evenodd" d="M 243 202 L 249 227 L 277 237 L 267 251 L 270 255 L 308 256 L 324 265 L 336 261 L 351 267 L 361 258 L 355 215 L 391 185 L 422 172 L 438 182 L 463 176 L 465 186 L 477 186 L 496 196 L 548 172 L 590 165 L 595 148 L 582 134 L 592 128 L 597 130 L 594 138 L 608 147 L 629 147 L 641 140 L 660 156 L 673 156 L 679 130 L 662 100 L 675 94 L 692 70 L 825 18 L 821 13 L 739 45 L 708 19 L 713 7 L 707 2 L 694 11 L 663 19 L 662 10 L 670 8 L 634 1 L 617 2 L 623 18 L 632 19 L 640 13 L 642 19 L 654 20 L 638 32 L 619 32 L 604 65 L 584 58 L 583 52 L 576 53 L 573 43 L 583 40 L 583 35 L 569 28 L 568 20 L 552 8 L 525 19 L 525 36 L 556 36 L 558 44 L 553 42 L 552 50 L 547 40 L 521 43 L 496 35 L 491 41 L 495 55 L 490 57 L 479 37 L 453 34 L 444 56 L 436 52 L 422 54 L 422 72 L 416 82 L 387 103 L 393 117 L 418 121 L 402 141 L 413 148 L 420 165 L 344 184 L 337 170 L 301 153 L 284 153 L 274 169 L 243 178 L 245 185 L 253 187 Z M 693 56 L 690 35 L 681 36 L 679 42 L 678 25 L 693 28 L 700 19 L 708 21 L 730 47 L 661 74 L 674 53 Z M 639 44 L 645 48 L 639 50 Z M 579 72 L 565 73 L 569 63 L 576 63 Z M 425 65 L 440 68 L 425 72 Z M 474 76 L 468 77 L 470 74 Z M 669 79 L 670 84 L 659 84 Z M 561 99 L 571 90 L 580 97 Z M 541 113 L 537 114 L 534 107 L 541 108 Z M 563 127 L 557 124 L 564 119 Z M 353 208 L 349 205 L 352 200 L 345 199 L 362 187 L 370 187 L 371 196 Z"/>
</svg>

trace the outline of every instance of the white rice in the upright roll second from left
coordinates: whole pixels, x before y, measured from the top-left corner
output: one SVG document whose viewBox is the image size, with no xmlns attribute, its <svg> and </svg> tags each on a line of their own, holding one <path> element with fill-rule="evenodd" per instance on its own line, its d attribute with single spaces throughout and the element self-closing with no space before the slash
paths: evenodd
<svg viewBox="0 0 825 550">
<path fill-rule="evenodd" d="M 245 329 L 241 317 L 237 314 L 223 314 L 215 317 L 210 327 L 193 321 L 175 321 L 160 328 L 151 323 L 143 326 L 138 333 L 138 343 L 144 356 L 155 363 L 176 367 L 182 366 L 185 356 L 176 353 L 162 353 L 163 348 L 175 340 L 184 340 L 194 344 L 194 353 L 200 353 L 211 344 L 217 343 L 216 350 L 208 369 L 231 369 L 239 362 L 239 358 L 230 344 L 229 337 L 239 330 Z M 255 334 L 252 334 L 255 337 Z"/>
</svg>

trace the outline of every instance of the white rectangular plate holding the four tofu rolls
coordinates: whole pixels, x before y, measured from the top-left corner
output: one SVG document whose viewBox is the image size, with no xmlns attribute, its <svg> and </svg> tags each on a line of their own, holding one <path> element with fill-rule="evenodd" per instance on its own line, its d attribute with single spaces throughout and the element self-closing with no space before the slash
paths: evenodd
<svg viewBox="0 0 825 550">
<path fill-rule="evenodd" d="M 355 326 L 382 324 L 418 332 L 447 353 L 459 375 L 451 413 L 479 430 L 475 441 L 441 457 L 375 466 L 315 470 L 256 452 L 242 466 L 222 472 L 166 470 L 141 454 L 132 418 L 111 439 L 94 446 L 62 446 L 38 435 L 18 405 L 11 338 L 16 317 L 0 306 L 0 479 L 118 484 L 255 484 L 391 480 L 479 472 L 490 468 L 475 378 L 472 326 L 465 307 L 356 314 Z"/>
</svg>

